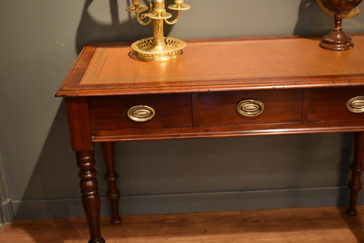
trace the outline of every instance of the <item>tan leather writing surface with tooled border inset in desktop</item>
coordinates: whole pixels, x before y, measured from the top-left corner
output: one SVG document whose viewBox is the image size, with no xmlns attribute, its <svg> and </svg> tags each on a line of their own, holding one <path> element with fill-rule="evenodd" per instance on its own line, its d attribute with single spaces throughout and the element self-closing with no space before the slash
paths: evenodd
<svg viewBox="0 0 364 243">
<path fill-rule="evenodd" d="M 364 36 L 355 37 L 364 50 Z M 318 48 L 320 39 L 273 39 L 188 43 L 166 63 L 139 61 L 126 45 L 100 46 L 80 84 L 127 84 L 361 74 L 364 61 L 349 51 Z M 349 59 L 353 59 L 353 61 Z"/>
</svg>

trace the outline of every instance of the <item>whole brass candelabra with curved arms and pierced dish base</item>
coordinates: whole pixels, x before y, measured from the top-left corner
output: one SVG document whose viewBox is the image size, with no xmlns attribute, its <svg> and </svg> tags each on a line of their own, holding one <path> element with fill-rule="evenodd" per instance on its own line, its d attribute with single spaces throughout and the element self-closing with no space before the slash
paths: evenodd
<svg viewBox="0 0 364 243">
<path fill-rule="evenodd" d="M 181 56 L 181 49 L 186 46 L 185 41 L 172 37 L 165 37 L 163 33 L 163 21 L 167 24 L 174 24 L 179 19 L 182 10 L 190 9 L 189 5 L 183 4 L 184 0 L 175 0 L 175 4 L 169 5 L 168 8 L 176 10 L 177 17 L 173 21 L 168 21 L 172 15 L 166 12 L 165 0 L 154 0 L 149 7 L 141 5 L 141 0 L 132 0 L 132 6 L 127 7 L 126 11 L 134 12 L 137 20 L 142 25 L 148 25 L 153 21 L 153 37 L 145 38 L 134 42 L 131 47 L 138 52 L 139 59 L 151 62 L 170 61 Z M 139 16 L 140 12 L 149 10 Z M 147 22 L 143 19 L 149 18 Z"/>
</svg>

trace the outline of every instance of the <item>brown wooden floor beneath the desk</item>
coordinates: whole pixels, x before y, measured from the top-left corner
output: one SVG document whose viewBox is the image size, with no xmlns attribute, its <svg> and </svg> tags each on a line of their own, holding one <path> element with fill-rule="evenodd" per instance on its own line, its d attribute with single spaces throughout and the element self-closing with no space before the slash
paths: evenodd
<svg viewBox="0 0 364 243">
<path fill-rule="evenodd" d="M 364 242 L 364 206 L 357 216 L 343 207 L 124 216 L 101 219 L 107 243 Z M 15 221 L 0 242 L 87 242 L 86 219 Z"/>
</svg>

